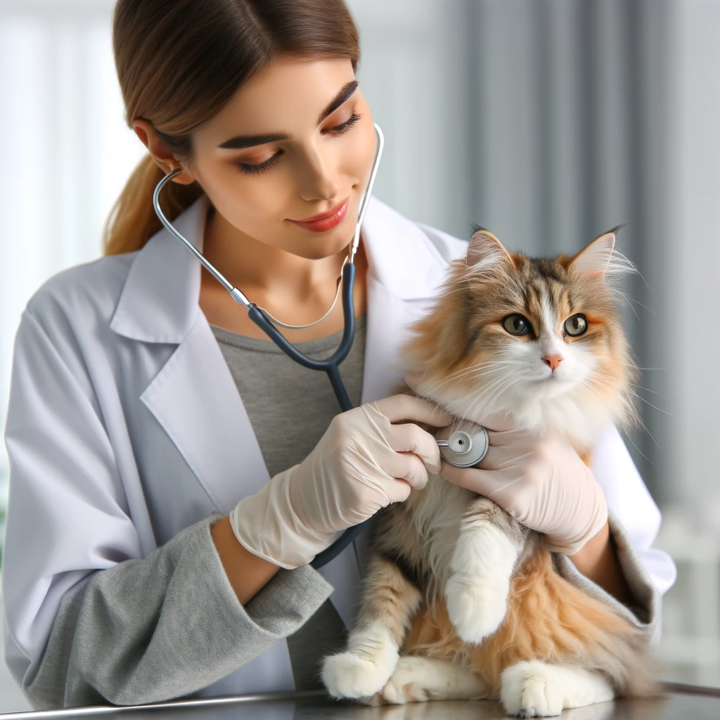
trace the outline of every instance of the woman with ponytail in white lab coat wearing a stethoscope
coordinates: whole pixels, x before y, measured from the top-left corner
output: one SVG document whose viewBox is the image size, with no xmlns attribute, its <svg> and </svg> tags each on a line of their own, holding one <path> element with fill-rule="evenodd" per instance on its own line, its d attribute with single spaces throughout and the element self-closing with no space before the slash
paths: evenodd
<svg viewBox="0 0 720 720">
<path fill-rule="evenodd" d="M 341 365 L 360 407 L 336 415 L 327 377 L 248 320 L 161 228 L 152 194 L 182 168 L 163 189 L 179 232 L 284 323 L 320 318 L 375 150 L 346 6 L 120 0 L 113 33 L 127 122 L 149 154 L 117 202 L 107 256 L 48 280 L 22 315 L 6 662 L 36 708 L 317 686 L 318 660 L 351 622 L 362 543 L 320 571 L 308 563 L 438 470 L 417 423 L 451 418 L 392 395 L 394 362 L 467 244 L 372 199 Z M 341 328 L 336 305 L 287 337 L 325 356 Z M 563 572 L 657 633 L 675 572 L 651 548 L 660 513 L 616 431 L 595 456 L 618 519 Z M 558 459 L 556 482 L 572 481 L 560 466 L 573 462 Z"/>
</svg>

